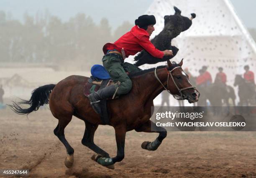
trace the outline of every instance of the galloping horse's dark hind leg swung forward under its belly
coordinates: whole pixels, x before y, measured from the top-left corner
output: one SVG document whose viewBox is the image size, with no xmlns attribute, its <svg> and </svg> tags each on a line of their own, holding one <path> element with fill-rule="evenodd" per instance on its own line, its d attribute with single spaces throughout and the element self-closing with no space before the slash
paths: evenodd
<svg viewBox="0 0 256 178">
<path fill-rule="evenodd" d="M 84 121 L 84 123 L 85 123 L 86 128 L 85 128 L 85 131 L 84 131 L 84 137 L 82 138 L 82 144 L 84 146 L 87 146 L 91 150 L 93 150 L 95 153 L 98 153 L 98 154 L 102 155 L 105 158 L 110 158 L 109 154 L 107 152 L 105 152 L 104 150 L 102 150 L 97 145 L 95 145 L 95 143 L 93 141 L 94 133 L 97 130 L 98 125 L 88 123 L 86 121 Z"/>
</svg>

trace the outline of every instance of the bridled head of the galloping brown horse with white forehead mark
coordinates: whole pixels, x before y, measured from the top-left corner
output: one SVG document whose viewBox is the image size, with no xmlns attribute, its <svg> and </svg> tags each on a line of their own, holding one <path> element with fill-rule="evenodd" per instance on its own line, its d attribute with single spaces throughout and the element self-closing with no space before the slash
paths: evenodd
<svg viewBox="0 0 256 178">
<path fill-rule="evenodd" d="M 167 89 L 177 100 L 188 100 L 189 103 L 198 101 L 200 93 L 189 82 L 188 75 L 182 70 L 183 59 L 179 64 L 167 60 Z"/>
</svg>

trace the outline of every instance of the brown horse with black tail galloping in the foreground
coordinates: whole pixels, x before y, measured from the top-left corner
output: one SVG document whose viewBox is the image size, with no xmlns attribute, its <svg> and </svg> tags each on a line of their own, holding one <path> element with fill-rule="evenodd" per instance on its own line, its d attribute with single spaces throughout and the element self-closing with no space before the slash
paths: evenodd
<svg viewBox="0 0 256 178">
<path fill-rule="evenodd" d="M 88 78 L 72 75 L 61 80 L 56 85 L 44 85 L 35 89 L 31 99 L 13 103 L 10 107 L 18 114 L 29 114 L 38 110 L 41 105 L 49 103 L 51 113 L 59 120 L 54 134 L 65 145 L 67 158 L 65 165 L 70 168 L 74 162 L 74 149 L 69 145 L 64 136 L 64 129 L 69 124 L 72 116 L 84 120 L 86 129 L 82 138 L 82 144 L 93 150 L 98 155 L 92 156 L 97 163 L 114 168 L 114 163 L 123 160 L 125 147 L 125 134 L 127 131 L 156 132 L 151 131 L 151 107 L 153 100 L 165 88 L 179 99 L 187 99 L 189 103 L 196 102 L 199 93 L 190 84 L 187 75 L 182 70 L 182 61 L 179 64 L 168 61 L 168 66 L 161 66 L 138 72 L 131 76 L 133 88 L 127 95 L 122 95 L 115 100 L 108 100 L 108 117 L 110 125 L 115 129 L 117 143 L 117 155 L 110 158 L 109 154 L 95 145 L 93 138 L 98 125 L 102 125 L 100 115 L 95 113 L 90 101 L 83 94 L 84 84 Z M 24 109 L 20 104 L 29 104 L 30 108 Z M 158 138 L 153 142 L 143 142 L 141 147 L 147 150 L 156 150 L 166 137 L 166 130 L 163 128 Z"/>
</svg>

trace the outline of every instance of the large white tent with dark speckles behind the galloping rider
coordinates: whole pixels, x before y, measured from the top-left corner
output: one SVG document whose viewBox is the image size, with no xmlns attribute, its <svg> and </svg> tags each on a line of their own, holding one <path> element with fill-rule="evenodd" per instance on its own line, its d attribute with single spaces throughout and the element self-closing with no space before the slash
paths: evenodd
<svg viewBox="0 0 256 178">
<path fill-rule="evenodd" d="M 222 66 L 228 85 L 233 85 L 235 74 L 244 73 L 244 65 L 256 71 L 255 42 L 229 0 L 155 0 L 146 12 L 156 17 L 151 38 L 163 29 L 164 15 L 174 14 L 173 6 L 179 8 L 183 16 L 190 17 L 190 13 L 197 16 L 187 31 L 172 40 L 172 45 L 179 48 L 172 60 L 184 58 L 184 68 L 189 68 L 194 76 L 199 75 L 198 70 L 202 65 L 206 65 L 213 80 L 218 67 Z M 141 67 L 157 65 L 160 64 Z"/>
</svg>

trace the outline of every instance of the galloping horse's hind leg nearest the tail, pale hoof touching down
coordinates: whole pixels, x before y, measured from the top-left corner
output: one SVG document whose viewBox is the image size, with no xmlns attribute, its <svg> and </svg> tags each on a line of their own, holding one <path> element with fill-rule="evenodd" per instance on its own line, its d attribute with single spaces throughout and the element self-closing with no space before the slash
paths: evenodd
<svg viewBox="0 0 256 178">
<path fill-rule="evenodd" d="M 59 140 L 64 144 L 64 146 L 67 149 L 67 158 L 65 159 L 65 165 L 67 168 L 71 168 L 74 163 L 74 149 L 69 145 L 68 141 L 65 138 L 64 135 L 64 129 L 68 125 L 68 123 L 72 119 L 71 116 L 64 116 L 59 119 L 59 123 L 57 127 L 54 129 L 54 134 L 59 138 Z"/>
</svg>

